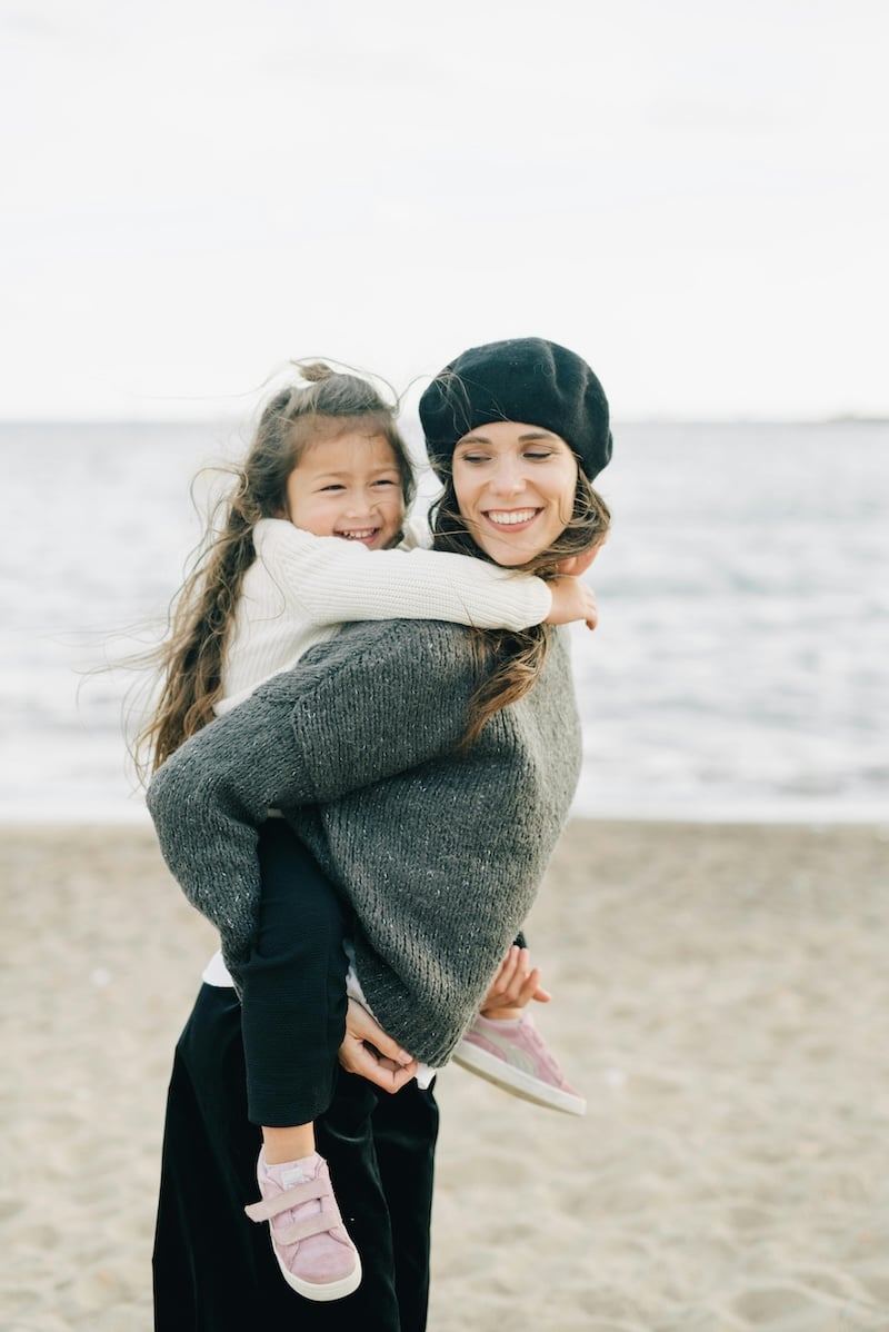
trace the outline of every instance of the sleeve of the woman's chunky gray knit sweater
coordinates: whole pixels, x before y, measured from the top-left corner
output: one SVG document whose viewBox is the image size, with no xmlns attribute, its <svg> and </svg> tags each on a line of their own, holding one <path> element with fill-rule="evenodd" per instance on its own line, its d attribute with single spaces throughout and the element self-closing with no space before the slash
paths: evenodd
<svg viewBox="0 0 889 1332">
<path fill-rule="evenodd" d="M 236 982 L 257 932 L 257 829 L 269 809 L 334 801 L 452 750 L 478 683 L 471 661 L 455 626 L 355 625 L 157 770 L 148 809 L 161 852 L 218 928 Z"/>
</svg>

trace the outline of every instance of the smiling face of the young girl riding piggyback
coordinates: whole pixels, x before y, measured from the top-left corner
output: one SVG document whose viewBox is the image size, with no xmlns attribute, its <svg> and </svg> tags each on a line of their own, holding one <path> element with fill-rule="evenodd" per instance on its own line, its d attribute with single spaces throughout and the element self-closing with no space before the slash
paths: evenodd
<svg viewBox="0 0 889 1332">
<path fill-rule="evenodd" d="M 390 546 L 405 519 L 398 460 L 382 434 L 346 430 L 307 444 L 287 477 L 287 518 L 315 537 Z"/>
</svg>

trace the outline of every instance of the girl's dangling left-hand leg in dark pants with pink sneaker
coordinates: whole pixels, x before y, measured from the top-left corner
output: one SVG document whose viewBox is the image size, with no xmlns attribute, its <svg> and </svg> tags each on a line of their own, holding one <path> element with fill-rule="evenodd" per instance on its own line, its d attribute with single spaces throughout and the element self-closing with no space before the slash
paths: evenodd
<svg viewBox="0 0 889 1332">
<path fill-rule="evenodd" d="M 361 1259 L 338 1216 L 314 1126 L 333 1096 L 345 1032 L 342 906 L 282 819 L 260 830 L 258 858 L 260 928 L 241 979 L 248 1112 L 262 1126 L 262 1197 L 248 1215 L 264 1231 L 269 1223 L 287 1285 L 311 1300 L 342 1300 L 361 1281 Z"/>
</svg>

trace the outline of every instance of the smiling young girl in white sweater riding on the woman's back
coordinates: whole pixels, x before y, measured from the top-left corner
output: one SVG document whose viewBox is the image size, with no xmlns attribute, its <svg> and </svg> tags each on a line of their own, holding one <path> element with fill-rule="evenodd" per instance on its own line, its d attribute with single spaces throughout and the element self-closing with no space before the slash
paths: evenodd
<svg viewBox="0 0 889 1332">
<path fill-rule="evenodd" d="M 161 695 L 142 737 L 154 767 L 213 717 L 337 634 L 345 621 L 425 618 L 523 630 L 540 622 L 583 619 L 595 626 L 595 599 L 578 578 L 543 582 L 468 555 L 406 549 L 410 542 L 403 529 L 414 480 L 394 409 L 355 376 L 323 365 L 303 366 L 301 373 L 305 385 L 282 390 L 265 408 L 225 525 L 209 535 L 204 561 L 180 599 L 162 650 Z M 347 709 L 349 699 L 343 699 L 345 717 Z M 264 875 L 293 874 L 286 839 L 279 823 L 261 840 L 261 850 L 271 856 Z M 301 1027 L 305 1048 L 293 1051 L 290 1062 L 297 1071 L 305 1068 L 305 1103 L 313 1112 L 305 1123 L 291 1123 L 285 1108 L 289 1096 L 275 1091 L 282 1074 L 282 1034 L 275 1026 L 274 987 L 290 987 L 289 1004 L 281 1006 L 287 1011 L 293 1008 L 293 986 L 299 986 L 311 1004 L 313 987 L 335 987 L 345 970 L 341 932 L 330 926 L 329 903 L 315 911 L 310 883 L 301 882 L 294 891 L 306 900 L 302 974 L 273 979 L 256 1007 L 250 1003 L 256 991 L 242 994 L 250 1119 L 262 1124 L 257 1173 L 264 1193 L 269 1179 L 287 1188 L 305 1184 L 311 1192 L 323 1169 L 314 1155 L 313 1122 L 326 1108 L 331 1055 L 341 1038 L 337 1023 L 331 1026 L 323 1014 L 317 1023 L 306 1019 Z M 242 975 L 245 959 L 226 960 Z M 218 954 L 205 980 L 232 983 Z M 527 952 L 512 950 L 498 986 L 500 994 L 520 992 L 527 1002 L 538 980 L 539 972 L 528 971 Z M 350 992 L 357 994 L 354 975 L 350 984 Z M 527 1020 L 518 1023 L 515 1007 L 504 1007 L 502 1000 L 494 1007 L 496 1012 L 476 1019 L 463 1056 L 455 1058 L 519 1095 L 583 1112 L 582 1099 L 564 1083 Z M 511 1043 L 519 1050 L 518 1067 L 508 1059 Z M 327 1072 L 317 1074 L 318 1066 Z M 329 1205 L 335 1207 L 333 1199 Z M 262 1204 L 249 1215 L 266 1219 Z M 309 1299 L 342 1297 L 361 1280 L 358 1255 L 346 1231 L 341 1224 L 331 1227 L 330 1217 L 327 1227 L 323 1235 L 303 1233 L 302 1243 L 297 1243 L 298 1227 L 289 1235 L 279 1228 L 273 1232 L 285 1280 Z"/>
</svg>

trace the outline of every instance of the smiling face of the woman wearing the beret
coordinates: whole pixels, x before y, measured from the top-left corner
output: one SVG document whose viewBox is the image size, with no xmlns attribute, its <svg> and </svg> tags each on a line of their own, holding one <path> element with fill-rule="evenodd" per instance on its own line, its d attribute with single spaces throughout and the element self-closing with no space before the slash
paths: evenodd
<svg viewBox="0 0 889 1332">
<path fill-rule="evenodd" d="M 526 563 L 571 521 L 578 462 L 564 440 L 542 426 L 479 426 L 458 441 L 452 468 L 460 514 L 498 565 Z"/>
</svg>

